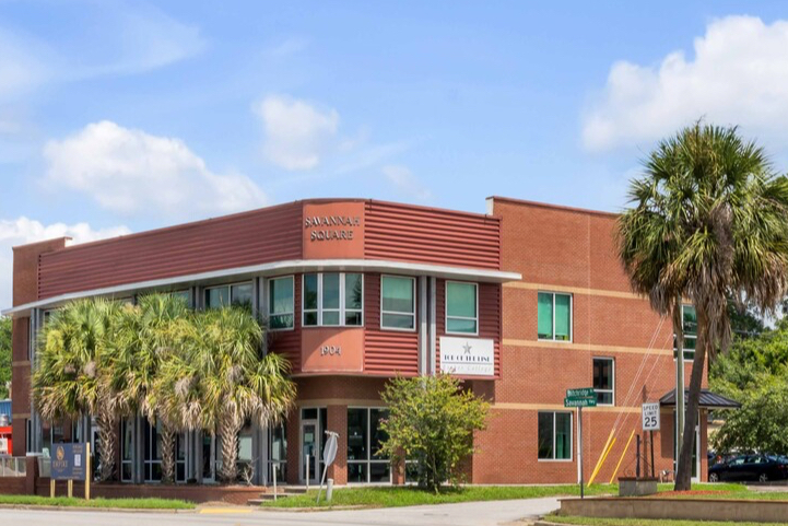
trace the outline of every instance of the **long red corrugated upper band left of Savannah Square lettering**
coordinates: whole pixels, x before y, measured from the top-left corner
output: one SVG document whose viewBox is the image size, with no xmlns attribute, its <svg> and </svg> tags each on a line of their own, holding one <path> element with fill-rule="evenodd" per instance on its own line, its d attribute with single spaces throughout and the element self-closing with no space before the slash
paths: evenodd
<svg viewBox="0 0 788 526">
<path fill-rule="evenodd" d="M 38 299 L 302 256 L 302 203 L 75 245 L 43 254 Z"/>
</svg>

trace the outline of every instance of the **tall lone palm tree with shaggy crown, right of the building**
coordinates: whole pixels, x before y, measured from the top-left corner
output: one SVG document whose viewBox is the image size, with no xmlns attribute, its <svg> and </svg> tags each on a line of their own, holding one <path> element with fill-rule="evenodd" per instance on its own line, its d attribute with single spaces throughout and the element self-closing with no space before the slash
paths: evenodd
<svg viewBox="0 0 788 526">
<path fill-rule="evenodd" d="M 730 337 L 728 297 L 771 311 L 786 291 L 788 180 L 737 128 L 696 122 L 661 141 L 619 219 L 619 252 L 634 291 L 671 315 L 682 356 L 682 300 L 697 313 L 677 490 L 689 490 L 707 354 Z"/>
</svg>

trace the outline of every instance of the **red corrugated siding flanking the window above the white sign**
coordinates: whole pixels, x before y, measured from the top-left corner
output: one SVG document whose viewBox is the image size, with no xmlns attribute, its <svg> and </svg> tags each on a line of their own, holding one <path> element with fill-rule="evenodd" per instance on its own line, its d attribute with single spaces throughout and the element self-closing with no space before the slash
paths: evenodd
<svg viewBox="0 0 788 526">
<path fill-rule="evenodd" d="M 446 280 L 437 280 L 435 287 L 436 335 L 435 366 L 440 371 L 440 337 L 457 336 L 446 334 Z M 501 378 L 501 285 L 479 283 L 479 336 L 493 340 L 495 352 L 495 378 Z"/>
</svg>

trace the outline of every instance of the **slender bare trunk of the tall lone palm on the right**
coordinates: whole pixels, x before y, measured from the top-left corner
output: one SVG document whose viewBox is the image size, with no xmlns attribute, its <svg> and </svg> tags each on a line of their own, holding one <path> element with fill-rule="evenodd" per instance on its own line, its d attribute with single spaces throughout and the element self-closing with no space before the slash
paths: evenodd
<svg viewBox="0 0 788 526">
<path fill-rule="evenodd" d="M 684 435 L 679 454 L 679 467 L 675 474 L 675 491 L 689 491 L 692 488 L 692 452 L 695 449 L 695 426 L 697 425 L 698 406 L 701 402 L 701 386 L 703 372 L 706 367 L 706 354 L 710 339 L 707 337 L 708 320 L 703 308 L 696 306 L 697 312 L 697 344 L 695 346 L 695 360 L 692 363 L 690 377 L 690 394 L 684 419 Z"/>
</svg>

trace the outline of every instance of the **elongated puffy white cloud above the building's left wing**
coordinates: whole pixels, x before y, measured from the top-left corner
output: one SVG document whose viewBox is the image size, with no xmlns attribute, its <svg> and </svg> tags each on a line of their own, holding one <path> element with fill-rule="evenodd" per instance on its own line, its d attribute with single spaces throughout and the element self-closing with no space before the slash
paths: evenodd
<svg viewBox="0 0 788 526">
<path fill-rule="evenodd" d="M 184 141 L 111 121 L 47 142 L 48 187 L 81 191 L 118 213 L 187 218 L 264 206 L 240 174 L 216 174 Z"/>
</svg>

